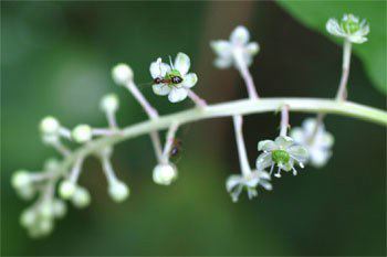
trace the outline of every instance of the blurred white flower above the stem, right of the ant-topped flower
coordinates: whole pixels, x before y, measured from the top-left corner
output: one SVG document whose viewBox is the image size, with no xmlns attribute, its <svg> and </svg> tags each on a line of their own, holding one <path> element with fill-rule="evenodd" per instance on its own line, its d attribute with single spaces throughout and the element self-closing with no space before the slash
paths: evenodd
<svg viewBox="0 0 387 257">
<path fill-rule="evenodd" d="M 248 66 L 252 63 L 252 58 L 260 51 L 257 42 L 249 43 L 250 33 L 248 29 L 242 25 L 237 26 L 230 35 L 230 40 L 217 40 L 211 42 L 213 52 L 218 55 L 215 65 L 219 68 L 227 68 L 231 65 L 238 67 L 238 60 L 240 57 Z"/>
</svg>

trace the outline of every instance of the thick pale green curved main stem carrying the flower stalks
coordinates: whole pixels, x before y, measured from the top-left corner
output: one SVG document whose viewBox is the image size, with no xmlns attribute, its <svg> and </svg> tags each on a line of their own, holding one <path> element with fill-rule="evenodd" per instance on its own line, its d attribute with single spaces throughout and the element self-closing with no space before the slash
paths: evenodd
<svg viewBox="0 0 387 257">
<path fill-rule="evenodd" d="M 151 131 L 167 129 L 174 122 L 178 122 L 181 126 L 184 124 L 202 119 L 278 111 L 281 110 L 284 105 L 289 106 L 290 111 L 341 115 L 387 126 L 386 111 L 351 101 L 287 97 L 260 98 L 258 100 L 234 100 L 224 104 L 209 105 L 205 108 L 191 108 L 176 114 L 160 116 L 156 119 L 130 125 L 116 135 L 105 136 L 90 141 L 64 159 L 62 171 L 67 170 L 79 156 L 88 156 L 101 148 L 113 146 L 142 135 L 147 135 Z"/>
</svg>

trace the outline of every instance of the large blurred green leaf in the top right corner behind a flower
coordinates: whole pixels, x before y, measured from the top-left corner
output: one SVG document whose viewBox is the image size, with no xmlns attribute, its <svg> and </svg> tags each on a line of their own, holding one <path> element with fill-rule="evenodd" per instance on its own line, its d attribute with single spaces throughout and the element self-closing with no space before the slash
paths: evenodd
<svg viewBox="0 0 387 257">
<path fill-rule="evenodd" d="M 386 1 L 286 1 L 280 0 L 280 6 L 306 26 L 317 30 L 338 44 L 343 39 L 337 39 L 325 30 L 328 18 L 342 19 L 344 13 L 353 13 L 360 19 L 366 19 L 370 25 L 368 42 L 354 44 L 354 52 L 363 60 L 373 85 L 381 93 L 387 94 L 386 84 Z M 349 87 L 351 81 L 349 81 Z"/>
</svg>

